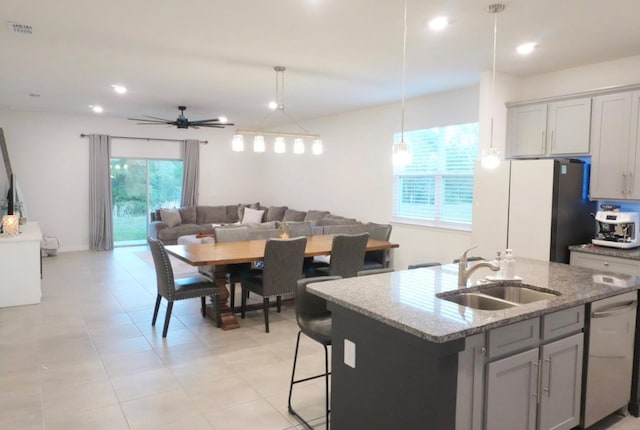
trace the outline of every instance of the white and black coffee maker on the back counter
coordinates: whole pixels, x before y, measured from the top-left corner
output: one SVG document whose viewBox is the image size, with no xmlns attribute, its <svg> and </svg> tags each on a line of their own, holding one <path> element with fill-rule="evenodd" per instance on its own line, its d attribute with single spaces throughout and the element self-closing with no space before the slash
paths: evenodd
<svg viewBox="0 0 640 430">
<path fill-rule="evenodd" d="M 638 219 L 637 212 L 598 211 L 596 237 L 591 242 L 613 248 L 636 248 L 640 246 Z"/>
</svg>

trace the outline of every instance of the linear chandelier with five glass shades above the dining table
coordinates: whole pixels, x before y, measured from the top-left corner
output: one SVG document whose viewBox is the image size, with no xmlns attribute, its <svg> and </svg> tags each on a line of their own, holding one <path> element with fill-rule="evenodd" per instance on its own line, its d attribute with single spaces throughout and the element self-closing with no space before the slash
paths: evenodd
<svg viewBox="0 0 640 430">
<path fill-rule="evenodd" d="M 313 141 L 311 146 L 311 153 L 313 155 L 320 155 L 323 152 L 322 148 L 322 140 L 320 139 L 320 135 L 309 133 L 300 123 L 291 116 L 289 116 L 285 112 L 285 104 L 284 104 L 284 72 L 286 67 L 284 66 L 275 66 L 273 68 L 276 72 L 276 100 L 269 103 L 269 109 L 272 111 L 282 112 L 283 115 L 287 116 L 287 120 L 291 121 L 295 125 L 297 125 L 303 133 L 292 133 L 292 132 L 271 132 L 260 130 L 251 130 L 251 129 L 236 129 L 236 132 L 233 136 L 233 140 L 231 141 L 231 150 L 235 152 L 244 151 L 244 136 L 245 135 L 253 135 L 253 151 L 254 152 L 265 152 L 265 138 L 264 136 L 274 136 L 273 143 L 273 152 L 276 154 L 283 154 L 287 151 L 287 137 L 293 138 L 293 153 L 294 154 L 304 154 L 305 153 L 305 139 L 311 139 Z"/>
</svg>

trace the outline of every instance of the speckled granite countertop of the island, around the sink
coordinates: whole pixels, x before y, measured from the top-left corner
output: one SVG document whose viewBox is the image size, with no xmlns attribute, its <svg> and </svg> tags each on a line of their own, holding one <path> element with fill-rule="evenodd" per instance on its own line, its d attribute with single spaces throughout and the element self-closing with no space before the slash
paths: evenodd
<svg viewBox="0 0 640 430">
<path fill-rule="evenodd" d="M 468 286 L 486 285 L 479 282 L 492 274 L 486 268 L 479 269 Z M 497 311 L 476 310 L 436 297 L 457 289 L 457 264 L 325 281 L 308 288 L 330 303 L 435 343 L 640 289 L 637 276 L 525 258 L 517 259 L 516 275 L 522 277 L 523 284 L 560 295 Z"/>
</svg>

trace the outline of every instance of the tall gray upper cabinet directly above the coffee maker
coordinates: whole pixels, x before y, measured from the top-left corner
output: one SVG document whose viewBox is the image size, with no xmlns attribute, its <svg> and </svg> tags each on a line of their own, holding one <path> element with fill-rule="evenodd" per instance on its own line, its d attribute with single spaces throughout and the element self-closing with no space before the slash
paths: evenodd
<svg viewBox="0 0 640 430">
<path fill-rule="evenodd" d="M 593 98 L 591 199 L 640 200 L 640 91 Z"/>
</svg>

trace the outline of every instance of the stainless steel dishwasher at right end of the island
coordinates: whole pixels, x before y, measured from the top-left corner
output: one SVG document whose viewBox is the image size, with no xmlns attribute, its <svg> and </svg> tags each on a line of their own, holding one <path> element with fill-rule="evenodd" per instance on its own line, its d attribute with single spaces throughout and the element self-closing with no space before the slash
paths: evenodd
<svg viewBox="0 0 640 430">
<path fill-rule="evenodd" d="M 582 428 L 629 403 L 637 306 L 637 292 L 591 304 Z"/>
</svg>

